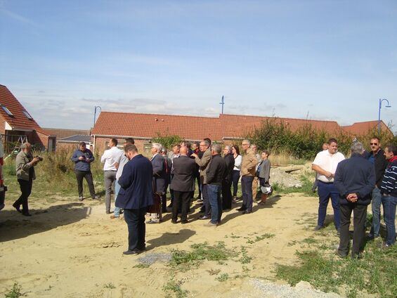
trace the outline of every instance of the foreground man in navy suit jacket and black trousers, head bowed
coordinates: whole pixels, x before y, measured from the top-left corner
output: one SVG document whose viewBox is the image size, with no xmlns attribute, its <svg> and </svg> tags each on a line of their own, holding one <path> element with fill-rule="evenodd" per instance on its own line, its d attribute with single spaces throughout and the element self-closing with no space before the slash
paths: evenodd
<svg viewBox="0 0 397 298">
<path fill-rule="evenodd" d="M 116 206 L 124 209 L 124 220 L 128 226 L 128 250 L 123 254 L 139 254 L 145 250 L 145 214 L 153 203 L 152 163 L 141 154 L 136 146 L 124 148 L 129 159 L 119 178 L 121 186 Z"/>
</svg>

